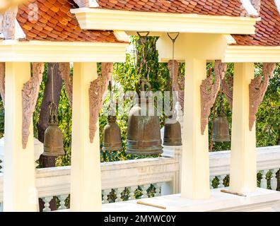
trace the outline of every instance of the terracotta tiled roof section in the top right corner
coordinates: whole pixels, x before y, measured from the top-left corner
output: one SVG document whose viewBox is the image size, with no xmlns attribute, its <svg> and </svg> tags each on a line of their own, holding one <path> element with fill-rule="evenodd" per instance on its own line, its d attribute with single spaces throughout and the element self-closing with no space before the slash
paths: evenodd
<svg viewBox="0 0 280 226">
<path fill-rule="evenodd" d="M 255 25 L 255 35 L 233 35 L 235 45 L 280 45 L 280 15 L 274 0 L 261 1 L 259 16 L 262 20 Z"/>
</svg>

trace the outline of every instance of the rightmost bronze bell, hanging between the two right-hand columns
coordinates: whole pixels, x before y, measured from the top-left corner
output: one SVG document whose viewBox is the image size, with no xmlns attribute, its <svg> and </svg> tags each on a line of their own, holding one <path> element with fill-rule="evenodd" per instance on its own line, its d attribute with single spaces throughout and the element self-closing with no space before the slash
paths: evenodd
<svg viewBox="0 0 280 226">
<path fill-rule="evenodd" d="M 226 142 L 231 141 L 231 136 L 229 134 L 228 118 L 225 112 L 223 112 L 223 106 L 221 104 L 220 111 L 218 112 L 218 117 L 214 121 L 214 131 L 213 139 L 215 142 Z"/>
</svg>

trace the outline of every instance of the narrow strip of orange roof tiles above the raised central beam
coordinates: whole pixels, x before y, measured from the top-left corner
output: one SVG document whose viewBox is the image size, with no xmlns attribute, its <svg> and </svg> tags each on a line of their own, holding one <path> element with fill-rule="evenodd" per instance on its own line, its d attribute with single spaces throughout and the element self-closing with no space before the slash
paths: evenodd
<svg viewBox="0 0 280 226">
<path fill-rule="evenodd" d="M 99 8 L 124 11 L 197 13 L 215 16 L 247 15 L 240 0 L 98 0 L 98 4 Z"/>
</svg>

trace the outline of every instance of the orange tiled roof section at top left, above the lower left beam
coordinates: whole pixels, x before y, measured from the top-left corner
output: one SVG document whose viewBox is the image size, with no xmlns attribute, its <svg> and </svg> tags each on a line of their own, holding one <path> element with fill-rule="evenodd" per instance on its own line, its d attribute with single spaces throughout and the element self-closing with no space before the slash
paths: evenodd
<svg viewBox="0 0 280 226">
<path fill-rule="evenodd" d="M 36 20 L 30 17 L 33 13 L 30 4 L 37 4 Z M 73 0 L 29 0 L 19 6 L 17 19 L 27 40 L 119 42 L 112 31 L 82 30 L 70 12 L 76 7 Z"/>
</svg>

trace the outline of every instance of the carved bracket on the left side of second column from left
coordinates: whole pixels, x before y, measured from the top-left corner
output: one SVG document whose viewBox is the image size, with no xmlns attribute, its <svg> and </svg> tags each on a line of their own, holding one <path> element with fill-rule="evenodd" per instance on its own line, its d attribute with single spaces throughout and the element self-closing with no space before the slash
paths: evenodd
<svg viewBox="0 0 280 226">
<path fill-rule="evenodd" d="M 70 77 L 70 64 L 59 63 L 59 73 L 61 74 L 62 79 L 64 80 L 66 94 L 69 100 L 69 104 L 72 107 L 73 79 Z"/>
</svg>

